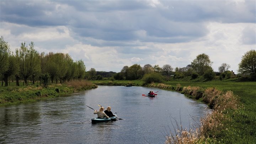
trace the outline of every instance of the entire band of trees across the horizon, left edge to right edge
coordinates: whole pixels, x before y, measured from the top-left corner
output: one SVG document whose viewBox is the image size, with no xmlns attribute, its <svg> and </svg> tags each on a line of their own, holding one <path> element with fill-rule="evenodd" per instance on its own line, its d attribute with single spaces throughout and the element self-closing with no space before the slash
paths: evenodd
<svg viewBox="0 0 256 144">
<path fill-rule="evenodd" d="M 23 79 L 28 85 L 28 79 L 33 84 L 35 80 L 40 80 L 47 84 L 49 82 L 60 83 L 74 80 L 74 79 L 90 79 L 102 80 L 103 78 L 111 78 L 112 80 L 137 80 L 144 76 L 150 78 L 150 74 L 155 77 L 164 76 L 166 80 L 173 76 L 174 78 L 183 78 L 191 76 L 196 79 L 198 76 L 203 76 L 207 80 L 212 80 L 214 76 L 220 75 L 220 80 L 223 78 L 230 78 L 233 74 L 229 71 L 230 65 L 222 63 L 218 72 L 214 72 L 212 68 L 212 61 L 207 54 L 199 54 L 197 57 L 183 68 L 173 68 L 170 64 L 165 64 L 162 67 L 159 65 L 145 64 L 143 67 L 139 64 L 132 66 L 123 66 L 119 73 L 96 71 L 91 68 L 86 71 L 86 66 L 82 60 L 75 61 L 69 54 L 44 52 L 39 54 L 34 49 L 34 43 L 31 42 L 28 46 L 26 43 L 21 43 L 19 49 L 15 53 L 10 51 L 10 45 L 4 41 L 3 37 L 0 39 L 0 78 L 4 80 L 5 86 L 8 85 L 8 78 L 16 79 L 18 81 Z M 256 80 L 256 50 L 249 50 L 246 52 L 239 63 L 239 70 L 241 74 L 248 76 L 250 80 Z M 152 78 L 150 78 L 152 79 Z"/>
</svg>

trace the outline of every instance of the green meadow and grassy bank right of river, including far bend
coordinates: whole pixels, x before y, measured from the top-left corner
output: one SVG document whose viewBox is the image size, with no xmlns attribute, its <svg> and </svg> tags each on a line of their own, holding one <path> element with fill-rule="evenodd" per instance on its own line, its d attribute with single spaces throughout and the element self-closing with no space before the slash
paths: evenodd
<svg viewBox="0 0 256 144">
<path fill-rule="evenodd" d="M 92 81 L 97 85 L 128 85 L 142 86 L 142 81 Z M 236 82 L 236 81 L 168 81 L 159 86 L 150 86 L 160 89 L 179 91 L 181 93 L 203 101 L 205 97 L 212 95 L 212 101 L 208 105 L 215 107 L 215 113 L 202 119 L 203 128 L 198 139 L 194 134 L 187 133 L 190 143 L 255 143 L 256 142 L 256 82 Z M 179 85 L 179 87 L 177 87 Z M 191 86 L 191 87 L 190 87 Z M 195 97 L 193 96 L 193 89 Z M 231 91 L 231 92 L 229 92 Z M 198 93 L 198 94 L 196 94 Z M 213 95 L 213 93 L 216 93 Z M 224 97 L 224 98 L 223 98 Z M 209 98 L 208 98 L 209 99 Z M 238 103 L 236 102 L 238 101 Z M 218 103 L 219 102 L 219 103 Z M 217 105 L 217 106 L 216 106 Z M 192 132 L 192 131 L 190 131 Z M 176 137 L 174 137 L 176 138 Z M 182 140 L 180 135 L 178 138 Z M 171 143 L 171 139 L 169 139 Z M 167 142 L 167 143 L 169 143 Z"/>
</svg>

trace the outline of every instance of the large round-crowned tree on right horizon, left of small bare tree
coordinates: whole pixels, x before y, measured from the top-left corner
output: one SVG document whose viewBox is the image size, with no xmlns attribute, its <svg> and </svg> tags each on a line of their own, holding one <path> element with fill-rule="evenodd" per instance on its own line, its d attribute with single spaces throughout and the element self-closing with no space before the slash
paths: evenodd
<svg viewBox="0 0 256 144">
<path fill-rule="evenodd" d="M 203 75 L 204 71 L 208 70 L 208 66 L 211 66 L 212 63 L 213 62 L 210 61 L 210 57 L 203 53 L 197 55 L 196 59 L 191 63 L 191 66 L 199 75 Z"/>
</svg>

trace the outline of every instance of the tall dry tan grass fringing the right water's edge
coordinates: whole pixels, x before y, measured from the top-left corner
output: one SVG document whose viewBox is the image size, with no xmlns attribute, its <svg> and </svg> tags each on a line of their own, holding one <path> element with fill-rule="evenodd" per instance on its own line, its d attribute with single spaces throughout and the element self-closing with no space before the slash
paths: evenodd
<svg viewBox="0 0 256 144">
<path fill-rule="evenodd" d="M 186 93 L 192 93 L 200 90 L 199 87 L 183 87 Z M 214 140 L 215 132 L 225 129 L 223 121 L 229 121 L 225 117 L 225 110 L 238 109 L 240 104 L 237 96 L 231 91 L 222 92 L 215 87 L 207 88 L 203 92 L 203 100 L 212 105 L 212 113 L 201 118 L 198 128 L 183 130 L 178 127 L 175 134 L 170 131 L 170 136 L 166 137 L 166 144 L 194 144 L 207 143 L 208 138 Z"/>
</svg>

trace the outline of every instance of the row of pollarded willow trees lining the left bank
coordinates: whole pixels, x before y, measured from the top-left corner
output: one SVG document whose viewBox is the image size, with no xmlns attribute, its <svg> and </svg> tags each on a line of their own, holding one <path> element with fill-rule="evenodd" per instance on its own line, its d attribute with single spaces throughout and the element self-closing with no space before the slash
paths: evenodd
<svg viewBox="0 0 256 144">
<path fill-rule="evenodd" d="M 74 61 L 69 54 L 44 52 L 39 54 L 34 49 L 34 43 L 28 46 L 22 42 L 15 53 L 10 51 L 10 45 L 0 38 L 0 78 L 8 86 L 8 78 L 15 77 L 16 85 L 23 79 L 28 85 L 28 79 L 33 84 L 40 80 L 45 86 L 51 81 L 65 82 L 66 80 L 83 79 L 85 64 L 82 60 Z"/>
</svg>

